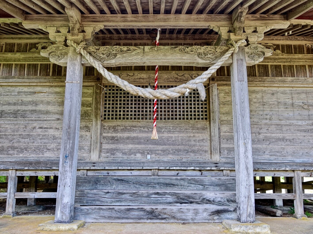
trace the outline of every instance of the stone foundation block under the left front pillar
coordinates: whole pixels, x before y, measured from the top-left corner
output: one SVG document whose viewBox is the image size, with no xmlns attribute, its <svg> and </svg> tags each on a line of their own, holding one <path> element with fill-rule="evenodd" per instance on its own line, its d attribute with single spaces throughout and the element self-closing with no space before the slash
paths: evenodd
<svg viewBox="0 0 313 234">
<path fill-rule="evenodd" d="M 85 224 L 83 220 L 74 220 L 71 223 L 55 223 L 50 220 L 38 225 L 38 231 L 75 231 Z"/>
</svg>

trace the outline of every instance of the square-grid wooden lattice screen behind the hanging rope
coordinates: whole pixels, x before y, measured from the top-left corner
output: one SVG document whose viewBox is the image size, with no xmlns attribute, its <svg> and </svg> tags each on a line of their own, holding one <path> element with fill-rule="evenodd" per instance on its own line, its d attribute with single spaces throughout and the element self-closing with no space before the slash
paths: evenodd
<svg viewBox="0 0 313 234">
<path fill-rule="evenodd" d="M 115 85 L 105 85 L 104 120 L 152 120 L 153 100 L 134 96 Z M 140 85 L 142 88 L 148 86 Z M 159 89 L 168 89 L 173 85 L 159 85 Z M 152 87 L 153 89 L 154 87 Z M 207 99 L 201 101 L 198 91 L 175 99 L 158 100 L 158 120 L 208 120 Z"/>
</svg>

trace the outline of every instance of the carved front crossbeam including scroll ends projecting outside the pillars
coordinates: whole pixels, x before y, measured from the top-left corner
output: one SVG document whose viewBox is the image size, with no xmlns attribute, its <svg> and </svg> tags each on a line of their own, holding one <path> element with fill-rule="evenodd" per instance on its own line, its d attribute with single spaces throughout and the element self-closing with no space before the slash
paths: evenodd
<svg viewBox="0 0 313 234">
<path fill-rule="evenodd" d="M 174 65 L 208 67 L 229 49 L 228 46 L 88 46 L 85 50 L 96 58 L 103 66 L 133 66 L 140 65 Z M 247 66 L 252 66 L 270 56 L 273 51 L 260 44 L 245 47 Z M 40 54 L 50 58 L 50 61 L 66 66 L 68 47 L 52 45 L 41 50 Z M 84 66 L 91 66 L 82 58 Z M 223 66 L 232 64 L 231 57 Z"/>
</svg>

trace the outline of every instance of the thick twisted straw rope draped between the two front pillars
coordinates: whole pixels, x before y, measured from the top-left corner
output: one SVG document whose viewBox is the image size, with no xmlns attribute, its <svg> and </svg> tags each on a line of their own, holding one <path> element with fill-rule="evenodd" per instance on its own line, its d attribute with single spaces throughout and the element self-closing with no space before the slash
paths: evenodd
<svg viewBox="0 0 313 234">
<path fill-rule="evenodd" d="M 118 76 L 110 73 L 107 69 L 105 69 L 98 61 L 95 60 L 88 52 L 84 50 L 86 47 L 86 43 L 82 42 L 79 45 L 71 40 L 67 40 L 67 44 L 69 46 L 73 46 L 77 53 L 81 53 L 87 61 L 95 67 L 109 82 L 116 84 L 127 92 L 138 95 L 144 98 L 149 99 L 170 99 L 181 96 L 182 94 L 188 94 L 188 92 L 192 89 L 198 89 L 200 94 L 200 99 L 205 99 L 205 89 L 203 86 L 203 82 L 205 82 L 216 70 L 228 59 L 228 57 L 232 53 L 237 53 L 238 46 L 241 43 L 246 43 L 244 40 L 240 40 L 235 43 L 233 40 L 229 40 L 227 45 L 229 47 L 228 51 L 218 59 L 218 61 L 212 65 L 207 71 L 203 72 L 203 74 L 199 75 L 196 79 L 189 80 L 186 84 L 181 84 L 177 87 L 173 87 L 170 89 L 149 89 L 149 88 L 141 88 L 136 87 L 135 85 L 129 84 L 126 80 L 119 78 Z"/>
</svg>

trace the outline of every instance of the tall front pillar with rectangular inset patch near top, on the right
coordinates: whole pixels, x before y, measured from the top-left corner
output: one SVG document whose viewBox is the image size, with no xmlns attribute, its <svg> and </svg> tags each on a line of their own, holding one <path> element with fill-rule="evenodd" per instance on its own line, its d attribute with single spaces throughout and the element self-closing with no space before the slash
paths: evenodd
<svg viewBox="0 0 313 234">
<path fill-rule="evenodd" d="M 248 96 L 247 67 L 244 47 L 233 53 L 231 88 L 235 146 L 237 219 L 255 221 L 252 144 Z"/>
</svg>

